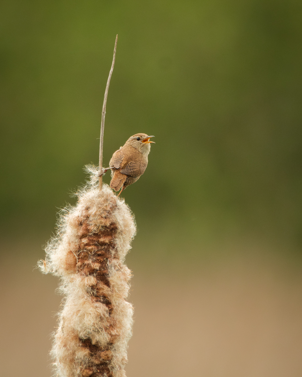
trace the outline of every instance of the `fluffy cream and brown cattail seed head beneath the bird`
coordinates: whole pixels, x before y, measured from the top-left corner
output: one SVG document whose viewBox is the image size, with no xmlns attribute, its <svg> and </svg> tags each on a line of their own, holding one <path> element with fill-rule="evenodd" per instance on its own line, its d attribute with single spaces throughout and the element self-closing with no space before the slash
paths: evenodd
<svg viewBox="0 0 302 377">
<path fill-rule="evenodd" d="M 62 377 L 125 376 L 133 307 L 125 299 L 131 271 L 124 264 L 136 232 L 133 216 L 96 167 L 75 207 L 62 213 L 46 247 L 43 273 L 60 277 L 64 295 L 51 355 Z"/>
</svg>

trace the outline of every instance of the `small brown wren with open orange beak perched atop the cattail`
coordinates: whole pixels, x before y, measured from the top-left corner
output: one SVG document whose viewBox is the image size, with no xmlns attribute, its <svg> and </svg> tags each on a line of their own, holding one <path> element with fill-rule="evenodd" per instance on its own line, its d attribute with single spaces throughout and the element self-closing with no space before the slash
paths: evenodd
<svg viewBox="0 0 302 377">
<path fill-rule="evenodd" d="M 115 191 L 121 189 L 119 195 L 127 186 L 136 182 L 146 170 L 150 143 L 154 143 L 149 139 L 153 137 L 145 133 L 137 133 L 113 153 L 109 162 L 112 177 L 110 187 Z"/>
</svg>

